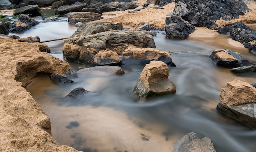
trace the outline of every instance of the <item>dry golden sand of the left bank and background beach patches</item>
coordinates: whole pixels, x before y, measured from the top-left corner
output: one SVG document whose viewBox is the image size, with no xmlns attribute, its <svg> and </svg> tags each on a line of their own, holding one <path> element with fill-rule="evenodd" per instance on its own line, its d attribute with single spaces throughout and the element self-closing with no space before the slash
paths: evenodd
<svg viewBox="0 0 256 152">
<path fill-rule="evenodd" d="M 146 0 L 137 2 L 142 5 L 146 3 Z M 248 7 L 252 11 L 247 12 L 245 16 L 230 21 L 218 20 L 217 24 L 223 27 L 232 22 L 241 21 L 254 25 L 256 23 L 256 3 L 250 2 Z M 150 26 L 154 28 L 164 28 L 165 18 L 173 8 L 174 3 L 164 6 L 163 9 L 147 7 L 137 13 L 128 13 L 128 10 L 115 11 L 104 13 L 103 20 L 123 22 L 124 26 L 133 28 L 139 27 L 145 22 L 149 22 Z M 13 10 L 1 10 L 0 14 L 11 14 L 12 12 Z M 195 32 L 190 36 L 211 38 L 218 36 L 218 33 L 204 27 L 196 27 Z M 240 46 L 238 43 L 234 45 Z M 47 66 L 53 64 L 52 72 L 58 72 L 58 69 L 54 69 L 54 64 L 63 64 L 65 68 L 69 68 L 68 64 L 61 63 L 47 53 L 41 53 L 35 45 L 17 40 L 0 38 L 0 47 L 0 151 L 76 151 L 66 145 L 58 145 L 52 138 L 49 116 L 43 112 L 40 105 L 24 88 L 31 81 L 33 75 L 30 77 L 20 76 L 21 82 L 16 81 L 19 77 L 18 71 L 23 67 L 18 65 L 28 61 L 33 63 L 39 57 L 44 58 L 45 61 L 54 61 L 47 63 Z"/>
</svg>

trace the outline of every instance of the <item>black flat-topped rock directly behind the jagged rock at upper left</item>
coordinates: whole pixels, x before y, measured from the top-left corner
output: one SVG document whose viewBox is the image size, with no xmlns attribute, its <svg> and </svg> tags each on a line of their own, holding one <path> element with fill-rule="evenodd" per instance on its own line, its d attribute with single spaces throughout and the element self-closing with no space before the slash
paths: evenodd
<svg viewBox="0 0 256 152">
<path fill-rule="evenodd" d="M 29 16 L 40 16 L 38 5 L 27 5 L 25 7 L 20 7 L 18 9 L 15 9 L 13 12 L 13 15 L 19 15 L 19 14 L 28 14 Z"/>
</svg>

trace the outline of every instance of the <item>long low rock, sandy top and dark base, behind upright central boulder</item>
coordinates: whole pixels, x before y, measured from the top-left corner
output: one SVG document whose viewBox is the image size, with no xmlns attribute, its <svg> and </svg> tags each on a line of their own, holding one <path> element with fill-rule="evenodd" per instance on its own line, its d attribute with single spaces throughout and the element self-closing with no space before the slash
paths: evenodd
<svg viewBox="0 0 256 152">
<path fill-rule="evenodd" d="M 159 51 L 156 48 L 128 48 L 120 54 L 124 65 L 146 65 L 150 61 L 156 60 L 172 67 L 176 66 L 167 52 Z"/>
</svg>

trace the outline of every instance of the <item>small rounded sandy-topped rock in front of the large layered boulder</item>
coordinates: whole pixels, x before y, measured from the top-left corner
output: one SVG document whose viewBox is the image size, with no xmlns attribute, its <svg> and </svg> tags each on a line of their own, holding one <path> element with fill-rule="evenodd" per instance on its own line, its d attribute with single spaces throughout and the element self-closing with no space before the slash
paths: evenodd
<svg viewBox="0 0 256 152">
<path fill-rule="evenodd" d="M 94 57 L 94 62 L 97 65 L 121 65 L 121 58 L 118 56 L 117 52 L 112 50 L 99 51 Z"/>
</svg>

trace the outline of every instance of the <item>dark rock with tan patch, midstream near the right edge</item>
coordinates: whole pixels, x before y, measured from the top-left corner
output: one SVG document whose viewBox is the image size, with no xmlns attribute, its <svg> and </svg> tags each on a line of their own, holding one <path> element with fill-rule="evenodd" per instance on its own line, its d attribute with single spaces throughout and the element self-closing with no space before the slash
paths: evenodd
<svg viewBox="0 0 256 152">
<path fill-rule="evenodd" d="M 216 49 L 209 57 L 213 63 L 223 67 L 241 67 L 243 62 L 246 62 L 239 53 L 234 53 L 229 49 Z"/>
</svg>

